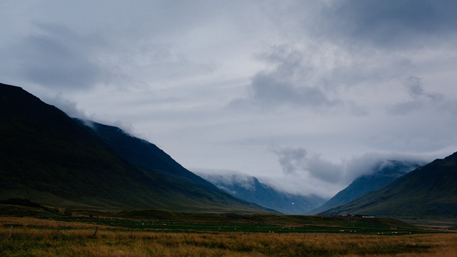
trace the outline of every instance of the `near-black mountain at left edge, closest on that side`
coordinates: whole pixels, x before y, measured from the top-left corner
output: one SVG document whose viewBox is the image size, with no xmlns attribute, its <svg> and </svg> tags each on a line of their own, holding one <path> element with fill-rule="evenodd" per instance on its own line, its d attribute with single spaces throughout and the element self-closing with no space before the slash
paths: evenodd
<svg viewBox="0 0 457 257">
<path fill-rule="evenodd" d="M 87 209 L 271 211 L 182 170 L 130 163 L 96 133 L 20 87 L 0 84 L 0 108 L 0 200 Z M 157 161 L 164 162 L 176 166 Z"/>
</svg>

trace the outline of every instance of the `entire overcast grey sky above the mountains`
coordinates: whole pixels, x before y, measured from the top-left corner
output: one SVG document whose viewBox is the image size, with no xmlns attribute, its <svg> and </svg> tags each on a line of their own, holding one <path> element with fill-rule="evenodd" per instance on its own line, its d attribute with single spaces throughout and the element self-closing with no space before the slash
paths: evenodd
<svg viewBox="0 0 457 257">
<path fill-rule="evenodd" d="M 0 1 L 0 82 L 191 171 L 332 197 L 457 151 L 457 2 Z"/>
</svg>

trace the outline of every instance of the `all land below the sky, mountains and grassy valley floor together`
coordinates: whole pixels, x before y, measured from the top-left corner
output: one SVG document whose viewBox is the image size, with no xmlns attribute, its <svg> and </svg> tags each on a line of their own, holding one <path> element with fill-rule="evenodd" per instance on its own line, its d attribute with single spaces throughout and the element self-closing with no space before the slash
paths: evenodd
<svg viewBox="0 0 457 257">
<path fill-rule="evenodd" d="M 375 164 L 321 206 L 255 177 L 199 176 L 118 127 L 0 91 L 2 256 L 455 253 L 457 153 Z"/>
</svg>

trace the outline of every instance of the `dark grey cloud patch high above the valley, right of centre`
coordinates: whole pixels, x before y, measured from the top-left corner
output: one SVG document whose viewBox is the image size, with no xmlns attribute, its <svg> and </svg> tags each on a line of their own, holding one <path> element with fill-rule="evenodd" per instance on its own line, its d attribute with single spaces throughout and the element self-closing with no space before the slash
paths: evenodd
<svg viewBox="0 0 457 257">
<path fill-rule="evenodd" d="M 274 68 L 256 73 L 246 87 L 247 97 L 232 105 L 262 108 L 279 106 L 327 109 L 342 104 L 312 82 L 314 67 L 305 63 L 304 53 L 290 45 L 277 45 L 258 55 Z"/>
</svg>

